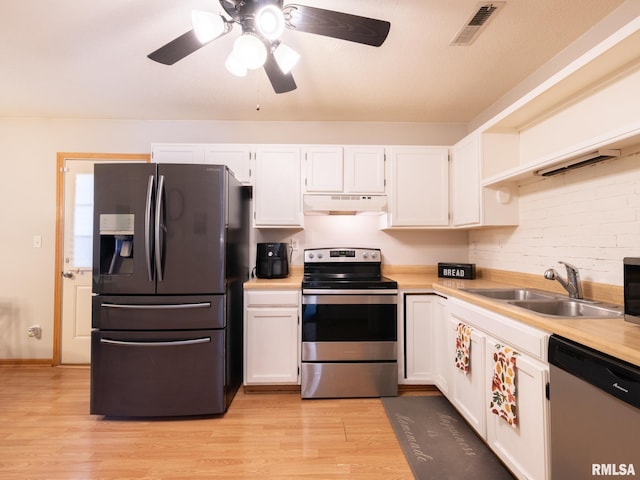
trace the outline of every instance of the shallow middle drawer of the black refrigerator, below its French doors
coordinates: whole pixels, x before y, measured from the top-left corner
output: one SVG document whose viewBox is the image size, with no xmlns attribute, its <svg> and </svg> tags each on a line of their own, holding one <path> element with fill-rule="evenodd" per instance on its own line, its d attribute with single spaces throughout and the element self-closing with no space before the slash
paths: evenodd
<svg viewBox="0 0 640 480">
<path fill-rule="evenodd" d="M 92 325 L 101 330 L 197 330 L 226 326 L 224 295 L 97 295 L 92 302 Z"/>
</svg>

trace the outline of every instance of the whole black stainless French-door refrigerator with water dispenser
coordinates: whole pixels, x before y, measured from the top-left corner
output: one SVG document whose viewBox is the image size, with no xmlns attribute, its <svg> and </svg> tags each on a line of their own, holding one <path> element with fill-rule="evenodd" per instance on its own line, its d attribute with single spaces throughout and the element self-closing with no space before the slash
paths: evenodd
<svg viewBox="0 0 640 480">
<path fill-rule="evenodd" d="M 249 202 L 221 165 L 95 166 L 92 414 L 226 412 L 242 384 Z"/>
</svg>

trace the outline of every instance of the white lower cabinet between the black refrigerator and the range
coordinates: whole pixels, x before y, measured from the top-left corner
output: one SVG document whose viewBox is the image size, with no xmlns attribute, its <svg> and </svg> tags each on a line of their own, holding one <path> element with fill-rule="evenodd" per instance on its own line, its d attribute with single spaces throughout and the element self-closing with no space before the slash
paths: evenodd
<svg viewBox="0 0 640 480">
<path fill-rule="evenodd" d="M 244 384 L 300 384 L 298 290 L 244 292 Z"/>
</svg>

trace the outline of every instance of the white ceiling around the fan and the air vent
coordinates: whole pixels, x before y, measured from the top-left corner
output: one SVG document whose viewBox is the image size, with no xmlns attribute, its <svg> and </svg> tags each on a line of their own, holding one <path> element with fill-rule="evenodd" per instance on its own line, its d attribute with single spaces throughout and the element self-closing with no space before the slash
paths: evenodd
<svg viewBox="0 0 640 480">
<path fill-rule="evenodd" d="M 468 47 L 477 0 L 285 0 L 388 20 L 379 48 L 286 31 L 297 90 L 224 68 L 239 27 L 173 66 L 147 54 L 216 0 L 2 0 L 0 116 L 468 123 L 623 0 L 507 0 Z M 256 109 L 257 104 L 260 110 Z"/>
</svg>

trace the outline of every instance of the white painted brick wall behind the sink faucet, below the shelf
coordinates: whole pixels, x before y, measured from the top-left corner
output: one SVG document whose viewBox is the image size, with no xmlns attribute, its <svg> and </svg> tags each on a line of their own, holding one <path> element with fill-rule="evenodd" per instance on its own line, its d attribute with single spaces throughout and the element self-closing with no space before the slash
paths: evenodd
<svg viewBox="0 0 640 480">
<path fill-rule="evenodd" d="M 558 260 L 583 280 L 622 285 L 622 259 L 640 257 L 640 154 L 519 187 L 520 225 L 469 233 L 478 267 L 542 275 Z"/>
</svg>

